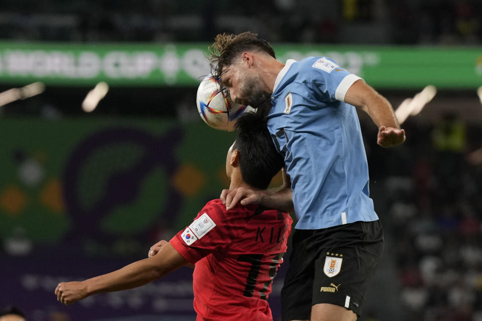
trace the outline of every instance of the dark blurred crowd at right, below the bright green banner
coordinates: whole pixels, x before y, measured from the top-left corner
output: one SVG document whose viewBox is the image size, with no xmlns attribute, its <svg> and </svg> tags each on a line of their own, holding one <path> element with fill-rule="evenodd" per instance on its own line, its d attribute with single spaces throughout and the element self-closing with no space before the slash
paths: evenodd
<svg viewBox="0 0 482 321">
<path fill-rule="evenodd" d="M 382 217 L 406 319 L 480 321 L 482 128 L 454 114 L 404 127 L 412 137 L 386 159 Z"/>
</svg>

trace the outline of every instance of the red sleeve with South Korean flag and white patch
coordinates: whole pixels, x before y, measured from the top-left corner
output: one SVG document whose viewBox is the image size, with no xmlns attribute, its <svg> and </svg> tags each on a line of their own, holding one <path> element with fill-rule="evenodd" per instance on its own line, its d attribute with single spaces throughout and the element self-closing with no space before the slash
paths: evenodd
<svg viewBox="0 0 482 321">
<path fill-rule="evenodd" d="M 191 225 L 169 241 L 191 264 L 231 243 L 225 209 L 220 201 L 216 201 L 207 203 Z"/>
</svg>

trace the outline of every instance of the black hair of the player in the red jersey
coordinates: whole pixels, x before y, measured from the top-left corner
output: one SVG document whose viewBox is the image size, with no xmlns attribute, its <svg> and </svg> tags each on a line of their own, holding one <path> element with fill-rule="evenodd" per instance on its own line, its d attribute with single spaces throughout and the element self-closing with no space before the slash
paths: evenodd
<svg viewBox="0 0 482 321">
<path fill-rule="evenodd" d="M 267 189 L 285 163 L 271 139 L 266 120 L 254 112 L 247 112 L 237 119 L 234 131 L 233 149 L 239 152 L 243 181 L 254 188 Z"/>
</svg>

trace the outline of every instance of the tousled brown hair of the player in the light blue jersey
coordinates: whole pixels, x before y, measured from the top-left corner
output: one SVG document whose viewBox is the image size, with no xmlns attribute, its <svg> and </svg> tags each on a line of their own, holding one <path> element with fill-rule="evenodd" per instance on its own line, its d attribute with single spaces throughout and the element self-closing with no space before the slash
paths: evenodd
<svg viewBox="0 0 482 321">
<path fill-rule="evenodd" d="M 258 37 L 258 34 L 244 32 L 238 35 L 219 34 L 214 38 L 214 43 L 209 47 L 211 54 L 211 73 L 214 78 L 221 77 L 222 68 L 230 66 L 240 53 L 247 50 L 264 51 L 276 58 L 275 51 L 270 44 Z"/>
</svg>

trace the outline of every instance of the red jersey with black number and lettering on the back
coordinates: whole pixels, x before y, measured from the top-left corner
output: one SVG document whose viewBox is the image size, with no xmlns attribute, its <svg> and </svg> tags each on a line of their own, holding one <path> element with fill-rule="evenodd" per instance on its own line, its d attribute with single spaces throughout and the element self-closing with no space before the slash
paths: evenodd
<svg viewBox="0 0 482 321">
<path fill-rule="evenodd" d="M 257 205 L 204 206 L 170 243 L 191 264 L 197 321 L 271 321 L 266 299 L 283 262 L 293 220 Z"/>
</svg>

